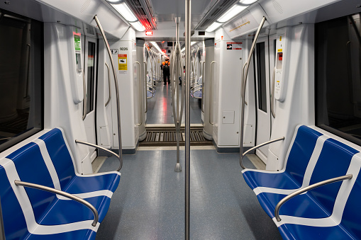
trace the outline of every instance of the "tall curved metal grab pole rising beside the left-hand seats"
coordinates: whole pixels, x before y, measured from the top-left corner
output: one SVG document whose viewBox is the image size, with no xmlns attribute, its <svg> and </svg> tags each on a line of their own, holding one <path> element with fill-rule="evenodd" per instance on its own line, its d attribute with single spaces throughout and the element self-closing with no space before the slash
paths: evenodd
<svg viewBox="0 0 361 240">
<path fill-rule="evenodd" d="M 114 67 L 113 57 L 111 56 L 111 48 L 109 47 L 108 40 L 106 40 L 106 35 L 104 33 L 104 30 L 103 30 L 103 28 L 101 28 L 101 24 L 99 23 L 99 20 L 98 20 L 97 16 L 94 16 L 94 20 L 96 21 L 96 24 L 99 27 L 101 35 L 103 36 L 104 43 L 106 45 L 106 49 L 108 50 L 109 58 L 111 59 L 111 67 L 113 69 L 114 84 L 115 84 L 115 87 L 116 87 L 116 117 L 117 117 L 117 120 L 118 120 L 118 143 L 119 143 L 118 158 L 119 158 L 119 161 L 121 162 L 121 166 L 119 166 L 119 170 L 121 170 L 121 168 L 123 166 L 123 153 L 122 153 L 122 147 L 121 147 L 121 104 L 119 103 L 118 79 L 116 77 L 116 68 Z"/>
</svg>

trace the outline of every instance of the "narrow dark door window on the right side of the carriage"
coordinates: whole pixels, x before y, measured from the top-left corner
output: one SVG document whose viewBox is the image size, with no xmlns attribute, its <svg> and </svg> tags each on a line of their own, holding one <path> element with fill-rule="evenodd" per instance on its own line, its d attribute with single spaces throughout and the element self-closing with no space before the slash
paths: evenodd
<svg viewBox="0 0 361 240">
<path fill-rule="evenodd" d="M 258 84 L 258 108 L 267 113 L 267 92 L 266 92 L 266 55 L 265 42 L 256 45 L 257 55 L 257 84 Z"/>
</svg>

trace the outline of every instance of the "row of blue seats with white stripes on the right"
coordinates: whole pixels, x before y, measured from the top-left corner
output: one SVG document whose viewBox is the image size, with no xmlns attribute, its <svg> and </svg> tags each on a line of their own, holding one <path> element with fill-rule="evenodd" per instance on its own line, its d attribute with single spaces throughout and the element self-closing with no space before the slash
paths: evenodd
<svg viewBox="0 0 361 240">
<path fill-rule="evenodd" d="M 352 207 L 357 208 L 357 198 L 361 198 L 360 156 L 352 147 L 301 126 L 296 129 L 283 171 L 247 169 L 243 176 L 284 239 L 320 236 L 322 239 L 357 239 L 361 236 L 361 212 L 353 211 Z M 289 193 L 350 173 L 353 175 L 350 180 L 323 185 L 291 198 L 279 210 L 282 221 L 274 218 L 277 203 Z M 348 202 L 346 207 L 345 202 Z"/>
</svg>

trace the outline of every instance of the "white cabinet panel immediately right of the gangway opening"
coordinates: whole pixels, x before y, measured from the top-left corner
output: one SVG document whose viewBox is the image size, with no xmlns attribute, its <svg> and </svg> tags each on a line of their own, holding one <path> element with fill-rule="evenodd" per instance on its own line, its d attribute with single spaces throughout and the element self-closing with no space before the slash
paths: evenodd
<svg viewBox="0 0 361 240">
<path fill-rule="evenodd" d="M 240 85 L 243 67 L 243 44 L 241 50 L 230 49 L 231 40 L 221 28 L 216 31 L 215 69 L 213 84 L 213 134 L 216 132 L 218 147 L 239 147 L 240 142 Z M 232 44 L 236 46 L 235 43 Z M 223 122 L 223 113 L 232 112 L 233 123 Z M 224 116 L 226 118 L 226 116 Z"/>
</svg>

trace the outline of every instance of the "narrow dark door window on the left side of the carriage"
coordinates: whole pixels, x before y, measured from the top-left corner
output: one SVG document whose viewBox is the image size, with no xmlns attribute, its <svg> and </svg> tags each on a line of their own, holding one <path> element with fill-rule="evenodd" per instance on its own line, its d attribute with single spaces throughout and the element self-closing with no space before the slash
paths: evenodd
<svg viewBox="0 0 361 240">
<path fill-rule="evenodd" d="M 94 66 L 95 43 L 88 42 L 88 79 L 87 79 L 87 113 L 94 110 Z"/>
</svg>

